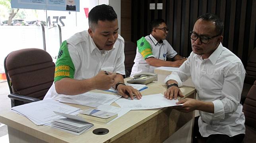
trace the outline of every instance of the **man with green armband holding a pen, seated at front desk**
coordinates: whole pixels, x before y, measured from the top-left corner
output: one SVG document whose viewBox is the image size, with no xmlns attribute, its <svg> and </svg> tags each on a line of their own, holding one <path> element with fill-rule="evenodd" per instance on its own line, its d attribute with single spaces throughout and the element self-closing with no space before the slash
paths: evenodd
<svg viewBox="0 0 256 143">
<path fill-rule="evenodd" d="M 141 93 L 124 84 L 124 39 L 118 36 L 117 15 L 111 6 L 89 12 L 89 29 L 74 34 L 60 47 L 54 83 L 44 99 L 115 88 L 125 98 Z"/>
</svg>

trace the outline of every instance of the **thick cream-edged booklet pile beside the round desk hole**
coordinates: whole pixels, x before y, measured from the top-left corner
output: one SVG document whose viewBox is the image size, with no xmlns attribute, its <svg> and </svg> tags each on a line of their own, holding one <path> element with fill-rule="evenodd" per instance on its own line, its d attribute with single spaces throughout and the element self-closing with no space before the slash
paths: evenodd
<svg viewBox="0 0 256 143">
<path fill-rule="evenodd" d="M 86 120 L 107 123 L 117 117 L 117 113 L 102 111 L 99 109 L 87 109 L 80 112 L 80 116 Z"/>
</svg>

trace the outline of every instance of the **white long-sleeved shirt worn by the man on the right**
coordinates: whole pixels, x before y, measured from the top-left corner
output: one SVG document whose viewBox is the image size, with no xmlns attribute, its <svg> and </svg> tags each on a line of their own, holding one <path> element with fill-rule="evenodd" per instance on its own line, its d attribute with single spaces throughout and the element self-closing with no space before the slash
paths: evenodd
<svg viewBox="0 0 256 143">
<path fill-rule="evenodd" d="M 190 76 L 198 99 L 214 105 L 213 114 L 199 111 L 201 135 L 226 134 L 232 137 L 245 133 L 245 118 L 239 103 L 245 77 L 241 60 L 220 43 L 208 59 L 192 52 L 178 71 L 165 78 L 165 83 L 176 80 L 180 87 Z"/>
</svg>

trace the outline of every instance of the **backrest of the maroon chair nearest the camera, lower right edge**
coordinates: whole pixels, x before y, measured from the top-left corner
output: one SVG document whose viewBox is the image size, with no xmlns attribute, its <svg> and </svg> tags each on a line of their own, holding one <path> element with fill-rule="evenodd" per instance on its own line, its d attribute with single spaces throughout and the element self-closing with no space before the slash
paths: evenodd
<svg viewBox="0 0 256 143">
<path fill-rule="evenodd" d="M 242 111 L 245 116 L 245 124 L 256 129 L 256 80 L 246 96 Z"/>
</svg>

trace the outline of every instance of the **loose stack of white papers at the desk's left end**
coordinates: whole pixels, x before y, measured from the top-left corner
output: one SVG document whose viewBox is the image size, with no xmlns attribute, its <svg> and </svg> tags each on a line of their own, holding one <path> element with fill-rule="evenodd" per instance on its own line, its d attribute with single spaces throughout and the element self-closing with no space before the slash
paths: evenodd
<svg viewBox="0 0 256 143">
<path fill-rule="evenodd" d="M 78 114 L 79 108 L 59 103 L 53 99 L 46 99 L 42 101 L 27 103 L 12 107 L 12 110 L 18 114 L 26 116 L 36 125 L 47 125 L 52 120 L 60 118 L 61 116 L 55 114 L 53 111 L 62 112 L 66 114 Z"/>
</svg>

